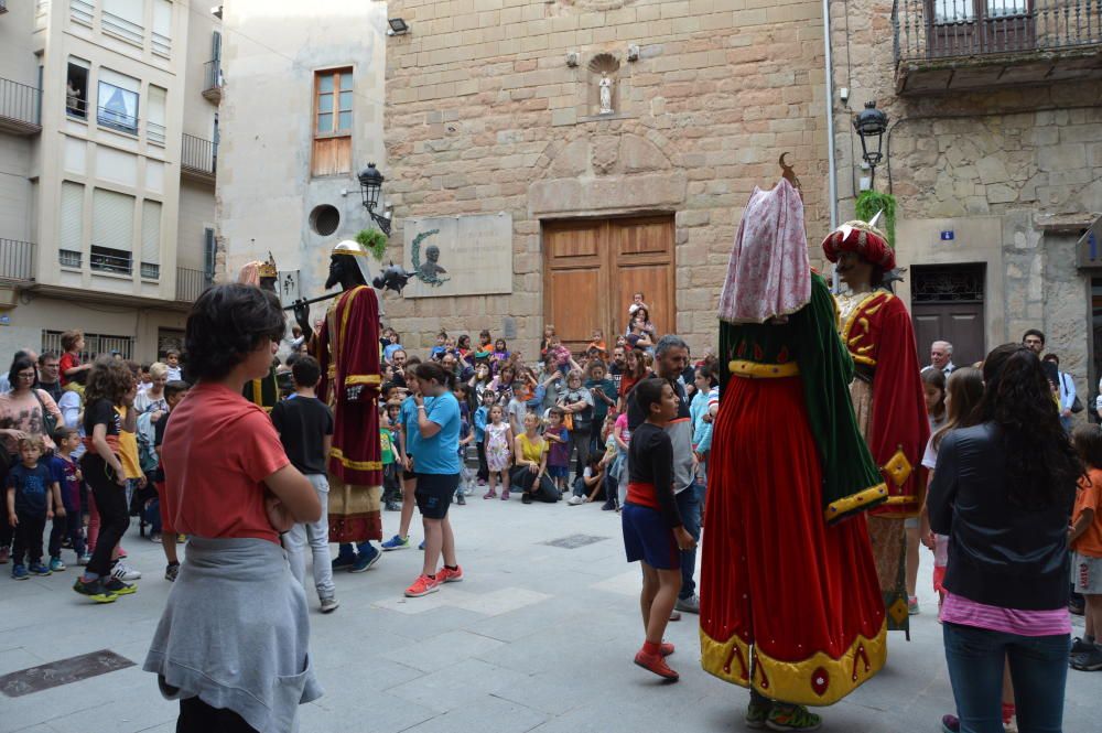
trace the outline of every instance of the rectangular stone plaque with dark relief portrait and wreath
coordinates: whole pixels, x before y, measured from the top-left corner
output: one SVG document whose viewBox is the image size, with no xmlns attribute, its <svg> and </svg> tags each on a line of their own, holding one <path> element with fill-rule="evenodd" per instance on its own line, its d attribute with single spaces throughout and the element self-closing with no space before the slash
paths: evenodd
<svg viewBox="0 0 1102 733">
<path fill-rule="evenodd" d="M 512 215 L 434 216 L 404 222 L 406 298 L 512 293 Z"/>
</svg>

